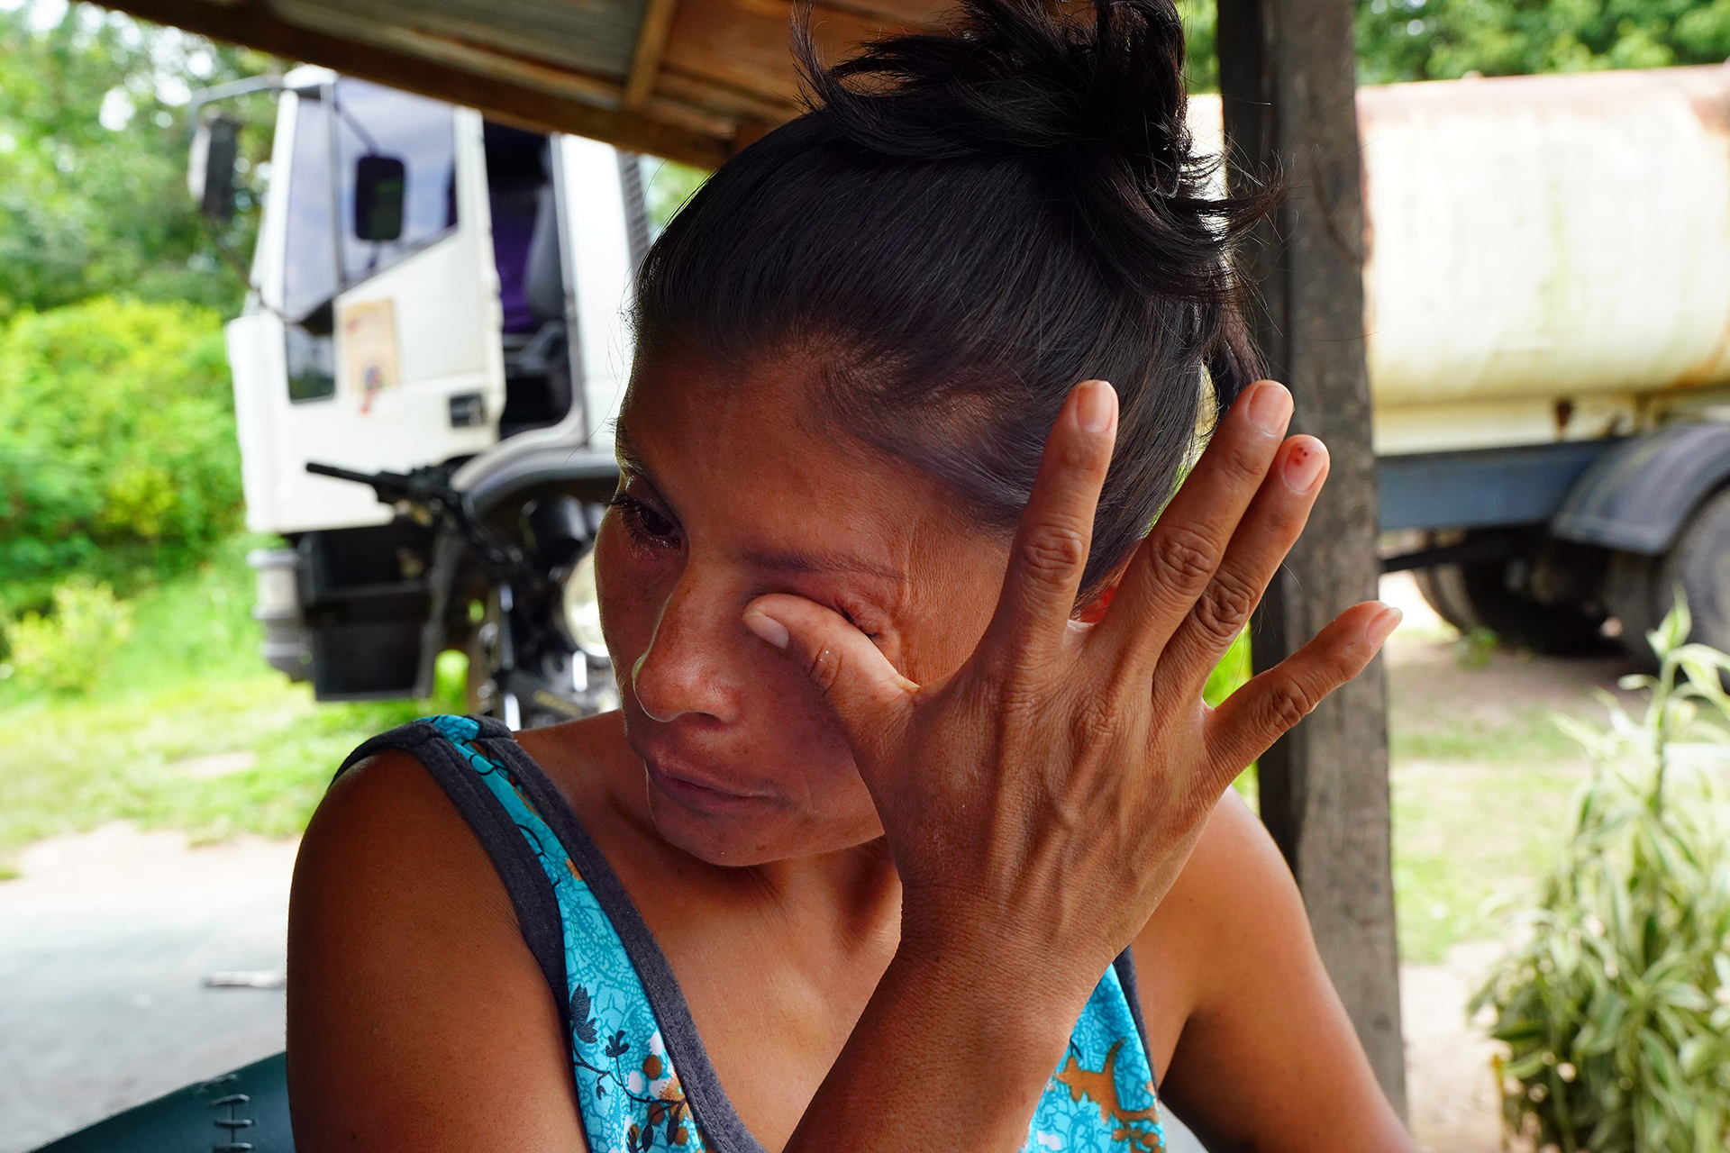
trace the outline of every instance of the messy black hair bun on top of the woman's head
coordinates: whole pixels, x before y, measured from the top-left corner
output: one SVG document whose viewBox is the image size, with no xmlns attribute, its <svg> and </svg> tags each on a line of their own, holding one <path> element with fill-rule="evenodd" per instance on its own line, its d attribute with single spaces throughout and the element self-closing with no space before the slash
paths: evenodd
<svg viewBox="0 0 1730 1153">
<path fill-rule="evenodd" d="M 1256 211 L 1206 199 L 1218 157 L 1194 152 L 1171 0 L 960 0 L 941 31 L 884 38 L 827 69 L 808 26 L 796 31 L 813 111 L 849 145 L 1033 164 L 1140 290 L 1230 292 L 1209 249 Z"/>
</svg>

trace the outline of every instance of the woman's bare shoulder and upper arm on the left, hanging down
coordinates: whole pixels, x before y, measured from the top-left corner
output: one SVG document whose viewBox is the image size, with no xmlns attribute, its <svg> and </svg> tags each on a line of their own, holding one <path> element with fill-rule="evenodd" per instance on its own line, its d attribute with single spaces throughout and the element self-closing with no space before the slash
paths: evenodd
<svg viewBox="0 0 1730 1153">
<path fill-rule="evenodd" d="M 569 1046 L 481 844 L 386 752 L 318 807 L 289 901 L 303 1153 L 585 1151 Z"/>
</svg>

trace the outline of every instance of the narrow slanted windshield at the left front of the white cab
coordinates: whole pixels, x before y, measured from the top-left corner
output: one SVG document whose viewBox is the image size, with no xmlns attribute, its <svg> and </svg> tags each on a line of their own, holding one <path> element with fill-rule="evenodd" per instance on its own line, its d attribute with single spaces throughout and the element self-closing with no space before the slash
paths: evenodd
<svg viewBox="0 0 1730 1153">
<path fill-rule="evenodd" d="M 298 93 L 294 161 L 289 169 L 287 244 L 282 270 L 289 399 L 336 396 L 330 299 L 336 296 L 334 187 L 330 183 L 330 107 L 317 88 Z"/>
</svg>

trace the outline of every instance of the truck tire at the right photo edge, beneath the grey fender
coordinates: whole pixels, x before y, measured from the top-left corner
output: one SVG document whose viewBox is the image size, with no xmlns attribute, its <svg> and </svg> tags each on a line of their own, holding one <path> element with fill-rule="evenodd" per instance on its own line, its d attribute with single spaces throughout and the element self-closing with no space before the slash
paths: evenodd
<svg viewBox="0 0 1730 1153">
<path fill-rule="evenodd" d="M 1647 666 L 1657 657 L 1645 634 L 1669 612 L 1678 586 L 1694 617 L 1688 640 L 1730 652 L 1730 489 L 1718 489 L 1694 510 L 1669 551 L 1611 558 L 1605 598 L 1621 621 L 1623 647 Z"/>
</svg>

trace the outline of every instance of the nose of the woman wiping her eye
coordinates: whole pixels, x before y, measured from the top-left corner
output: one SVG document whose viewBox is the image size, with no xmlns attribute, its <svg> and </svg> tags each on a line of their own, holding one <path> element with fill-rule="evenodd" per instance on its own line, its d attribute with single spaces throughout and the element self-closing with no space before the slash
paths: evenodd
<svg viewBox="0 0 1730 1153">
<path fill-rule="evenodd" d="M 701 714 L 734 721 L 739 712 L 735 671 L 742 624 L 737 598 L 723 589 L 680 581 L 661 607 L 649 648 L 631 667 L 637 704 L 656 721 Z"/>
</svg>

